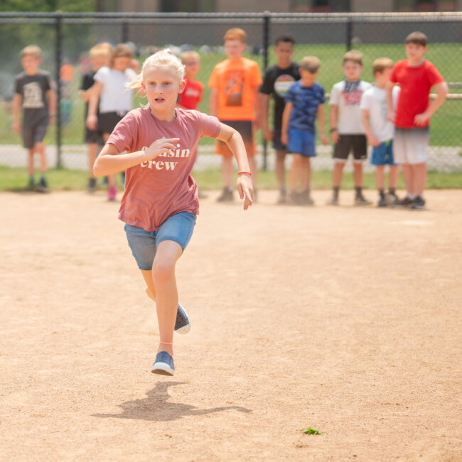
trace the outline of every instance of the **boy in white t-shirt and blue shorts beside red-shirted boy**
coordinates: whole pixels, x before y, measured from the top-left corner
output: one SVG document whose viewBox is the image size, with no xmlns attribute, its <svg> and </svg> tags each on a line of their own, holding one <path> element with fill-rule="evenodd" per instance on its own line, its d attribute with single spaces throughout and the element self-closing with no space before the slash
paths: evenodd
<svg viewBox="0 0 462 462">
<path fill-rule="evenodd" d="M 387 118 L 387 94 L 385 87 L 390 80 L 393 61 L 389 58 L 377 58 L 372 63 L 372 73 L 375 85 L 362 94 L 361 120 L 366 131 L 367 141 L 372 146 L 372 159 L 375 165 L 375 183 L 379 190 L 379 207 L 396 205 L 396 186 L 398 181 L 398 166 L 393 159 L 394 126 Z M 393 89 L 393 100 L 399 95 L 399 87 Z M 388 195 L 385 195 L 385 166 L 390 166 L 388 173 Z"/>
</svg>

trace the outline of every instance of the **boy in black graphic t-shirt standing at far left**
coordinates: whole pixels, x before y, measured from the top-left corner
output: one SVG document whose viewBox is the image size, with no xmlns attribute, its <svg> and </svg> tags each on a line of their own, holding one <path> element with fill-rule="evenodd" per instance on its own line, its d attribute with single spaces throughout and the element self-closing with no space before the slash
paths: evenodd
<svg viewBox="0 0 462 462">
<path fill-rule="evenodd" d="M 48 124 L 55 122 L 56 97 L 51 75 L 38 68 L 41 62 L 41 49 L 38 46 L 29 45 L 21 51 L 24 72 L 16 75 L 14 80 L 13 130 L 21 132 L 24 147 L 28 149 L 28 188 L 35 187 L 39 192 L 45 192 L 48 186 L 45 180 L 46 157 L 43 138 Z M 38 185 L 33 177 L 35 153 L 40 156 L 41 178 Z"/>
</svg>

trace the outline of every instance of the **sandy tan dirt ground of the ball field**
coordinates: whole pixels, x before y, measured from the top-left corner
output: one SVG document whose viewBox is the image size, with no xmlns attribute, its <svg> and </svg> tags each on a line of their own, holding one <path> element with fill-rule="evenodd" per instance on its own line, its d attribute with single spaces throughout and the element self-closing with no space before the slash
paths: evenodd
<svg viewBox="0 0 462 462">
<path fill-rule="evenodd" d="M 216 195 L 169 378 L 118 204 L 0 194 L 0 459 L 461 461 L 462 190 L 417 212 Z"/>
</svg>

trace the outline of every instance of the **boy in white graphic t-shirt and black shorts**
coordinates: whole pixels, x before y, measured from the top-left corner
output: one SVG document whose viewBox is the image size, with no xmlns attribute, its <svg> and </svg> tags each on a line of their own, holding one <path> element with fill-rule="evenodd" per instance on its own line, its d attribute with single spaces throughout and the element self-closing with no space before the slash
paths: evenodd
<svg viewBox="0 0 462 462">
<path fill-rule="evenodd" d="M 361 123 L 360 101 L 362 93 L 370 88 L 370 83 L 360 80 L 362 53 L 351 50 L 343 55 L 345 80 L 336 83 L 331 91 L 331 139 L 335 160 L 332 172 L 333 195 L 328 205 L 338 205 L 338 191 L 343 176 L 343 167 L 353 151 L 353 179 L 355 182 L 355 205 L 369 205 L 371 202 L 362 195 L 362 162 L 367 159 L 367 141 Z"/>
</svg>

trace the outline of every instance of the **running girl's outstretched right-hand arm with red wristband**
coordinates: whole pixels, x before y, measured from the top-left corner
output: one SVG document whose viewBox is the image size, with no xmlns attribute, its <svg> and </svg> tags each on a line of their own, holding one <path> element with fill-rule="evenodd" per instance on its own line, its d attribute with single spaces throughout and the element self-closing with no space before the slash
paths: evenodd
<svg viewBox="0 0 462 462">
<path fill-rule="evenodd" d="M 220 124 L 220 133 L 217 139 L 223 141 L 230 148 L 230 151 L 235 156 L 237 161 L 237 167 L 239 168 L 241 175 L 237 175 L 237 191 L 241 199 L 244 199 L 244 210 L 252 205 L 254 199 L 254 187 L 252 185 L 252 178 L 250 176 L 249 161 L 247 159 L 247 153 L 245 151 L 245 144 L 242 141 L 242 136 L 239 131 L 228 127 L 225 124 Z"/>
</svg>

